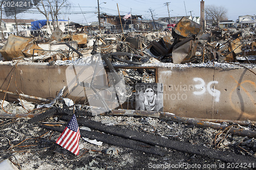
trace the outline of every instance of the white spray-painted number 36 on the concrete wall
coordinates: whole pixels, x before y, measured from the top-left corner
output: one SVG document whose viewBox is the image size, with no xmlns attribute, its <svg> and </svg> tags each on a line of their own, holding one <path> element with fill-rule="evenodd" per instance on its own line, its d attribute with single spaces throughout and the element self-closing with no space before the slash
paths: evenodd
<svg viewBox="0 0 256 170">
<path fill-rule="evenodd" d="M 206 92 L 206 89 L 208 91 L 208 93 L 212 96 L 214 96 L 215 98 L 215 101 L 216 102 L 219 102 L 220 101 L 220 95 L 221 95 L 221 92 L 219 90 L 216 90 L 214 88 L 214 85 L 211 86 L 212 84 L 218 84 L 219 82 L 218 81 L 211 81 L 207 84 L 207 86 L 205 87 L 205 82 L 203 79 L 201 78 L 194 78 L 193 79 L 195 82 L 200 82 L 200 84 L 197 84 L 195 85 L 195 88 L 200 90 L 200 91 L 194 91 L 193 93 L 196 94 L 196 95 L 202 95 Z"/>
</svg>

